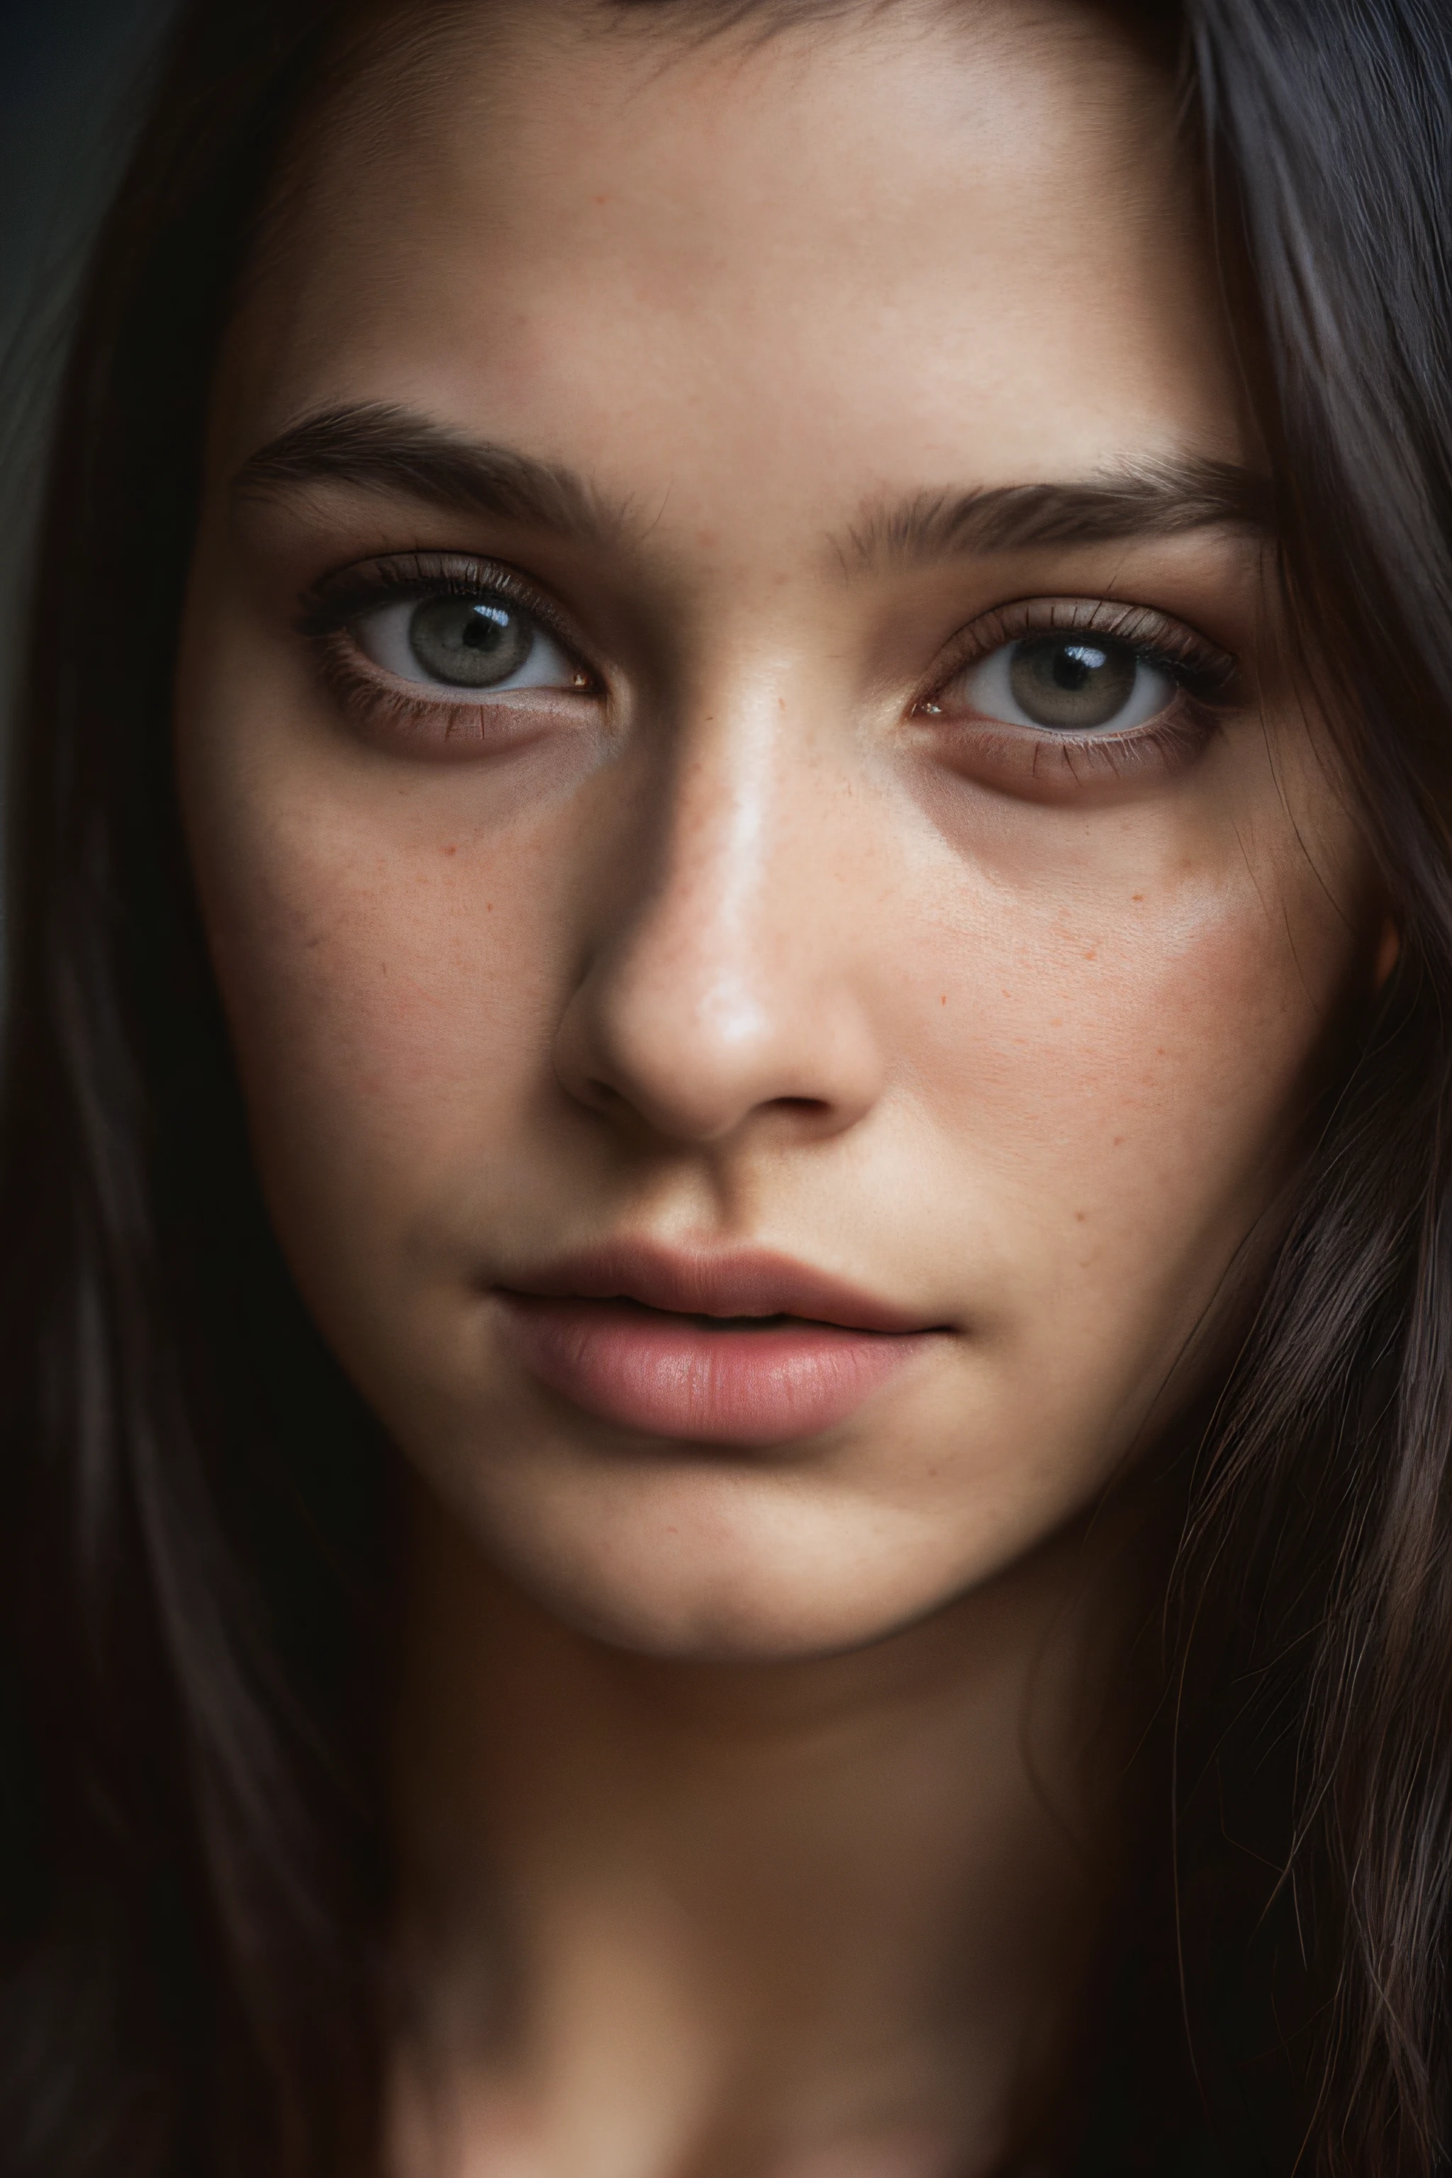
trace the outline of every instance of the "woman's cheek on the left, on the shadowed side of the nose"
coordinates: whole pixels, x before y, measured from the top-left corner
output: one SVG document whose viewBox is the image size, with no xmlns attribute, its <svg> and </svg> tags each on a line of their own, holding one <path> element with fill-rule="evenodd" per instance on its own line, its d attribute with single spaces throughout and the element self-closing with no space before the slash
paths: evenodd
<svg viewBox="0 0 1452 2178">
<path fill-rule="evenodd" d="M 570 821 L 485 830 L 468 786 L 403 769 L 283 778 L 183 762 L 209 945 L 294 1265 L 387 1281 L 553 1089 Z"/>
</svg>

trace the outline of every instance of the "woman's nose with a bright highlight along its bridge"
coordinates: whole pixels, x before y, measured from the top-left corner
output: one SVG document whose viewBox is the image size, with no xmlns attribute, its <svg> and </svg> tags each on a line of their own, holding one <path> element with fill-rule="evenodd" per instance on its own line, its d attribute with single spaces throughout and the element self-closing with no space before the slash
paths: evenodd
<svg viewBox="0 0 1452 2178">
<path fill-rule="evenodd" d="M 814 1137 L 853 1126 L 884 1052 L 851 782 L 782 697 L 760 697 L 679 734 L 636 810 L 559 1021 L 564 1089 L 677 1143 L 764 1115 Z"/>
</svg>

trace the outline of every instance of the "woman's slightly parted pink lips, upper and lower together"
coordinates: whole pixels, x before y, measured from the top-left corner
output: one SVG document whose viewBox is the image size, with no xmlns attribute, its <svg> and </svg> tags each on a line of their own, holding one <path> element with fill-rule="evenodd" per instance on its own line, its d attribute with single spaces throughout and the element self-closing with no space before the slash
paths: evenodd
<svg viewBox="0 0 1452 2178">
<path fill-rule="evenodd" d="M 697 1444 L 812 1437 L 945 1329 L 764 1250 L 623 1244 L 496 1296 L 540 1383 L 601 1420 Z"/>
</svg>

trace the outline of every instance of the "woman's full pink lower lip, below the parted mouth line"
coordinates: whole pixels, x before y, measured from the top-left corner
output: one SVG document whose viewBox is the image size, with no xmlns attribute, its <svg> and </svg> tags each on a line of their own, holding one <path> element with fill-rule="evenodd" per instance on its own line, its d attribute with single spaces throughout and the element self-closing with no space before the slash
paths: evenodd
<svg viewBox="0 0 1452 2178">
<path fill-rule="evenodd" d="M 714 1331 L 631 1300 L 501 1294 L 525 1368 L 586 1414 L 694 1444 L 788 1444 L 847 1420 L 932 1333 L 773 1318 Z"/>
</svg>

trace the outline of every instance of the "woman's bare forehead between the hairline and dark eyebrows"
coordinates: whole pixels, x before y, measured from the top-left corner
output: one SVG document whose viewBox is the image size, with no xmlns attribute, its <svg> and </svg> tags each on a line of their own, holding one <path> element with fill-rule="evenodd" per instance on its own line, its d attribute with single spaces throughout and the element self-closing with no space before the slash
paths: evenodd
<svg viewBox="0 0 1452 2178">
<path fill-rule="evenodd" d="M 627 494 L 1234 457 L 1171 87 L 1104 15 L 690 24 L 529 0 L 366 70 L 296 148 L 226 455 L 379 401 Z"/>
</svg>

